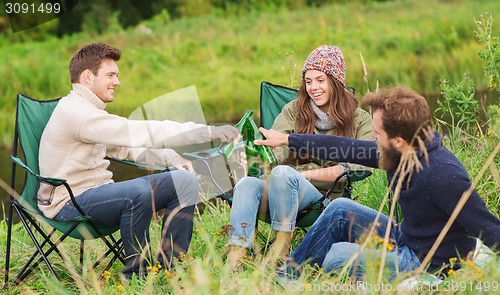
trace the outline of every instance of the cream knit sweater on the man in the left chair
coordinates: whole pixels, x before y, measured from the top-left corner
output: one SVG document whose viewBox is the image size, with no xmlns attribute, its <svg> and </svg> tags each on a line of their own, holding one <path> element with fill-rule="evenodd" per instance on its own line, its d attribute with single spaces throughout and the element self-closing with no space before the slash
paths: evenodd
<svg viewBox="0 0 500 295">
<path fill-rule="evenodd" d="M 40 142 L 40 174 L 66 179 L 75 196 L 113 182 L 105 156 L 168 165 L 179 155 L 168 149 L 211 140 L 210 127 L 192 122 L 138 121 L 111 115 L 90 89 L 73 84 L 57 104 Z M 69 201 L 63 186 L 41 184 L 40 210 L 53 218 Z"/>
</svg>

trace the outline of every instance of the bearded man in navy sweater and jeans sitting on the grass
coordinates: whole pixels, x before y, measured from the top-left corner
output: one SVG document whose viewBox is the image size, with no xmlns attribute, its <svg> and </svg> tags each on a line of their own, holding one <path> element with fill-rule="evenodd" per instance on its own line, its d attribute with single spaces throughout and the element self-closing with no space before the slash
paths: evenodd
<svg viewBox="0 0 500 295">
<path fill-rule="evenodd" d="M 290 150 L 314 157 L 386 170 L 404 219 L 398 225 L 353 200 L 335 199 L 278 275 L 296 278 L 305 263 L 322 266 L 325 272 L 339 272 L 353 258 L 351 275 L 362 278 L 367 263 L 380 262 L 382 257 L 381 247 L 360 245 L 372 225 L 379 237 L 385 236 L 390 225 L 391 246 L 384 263 L 391 277 L 419 267 L 442 272 L 450 267 L 450 259 L 464 259 L 474 251 L 477 238 L 490 248 L 498 247 L 500 220 L 470 189 L 466 170 L 443 146 L 439 132 L 432 129 L 425 98 L 411 89 L 394 87 L 369 93 L 365 101 L 372 111 L 375 141 L 319 134 L 286 135 L 262 128 L 267 139 L 255 143 L 272 147 L 288 144 Z M 470 193 L 467 202 L 430 263 L 422 265 L 464 193 Z"/>
</svg>

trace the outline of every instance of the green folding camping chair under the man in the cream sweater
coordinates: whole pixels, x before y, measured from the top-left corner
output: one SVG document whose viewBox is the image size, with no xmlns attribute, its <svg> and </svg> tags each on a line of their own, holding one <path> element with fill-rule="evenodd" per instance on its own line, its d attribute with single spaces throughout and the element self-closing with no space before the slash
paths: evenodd
<svg viewBox="0 0 500 295">
<path fill-rule="evenodd" d="M 123 245 L 121 239 L 115 239 L 113 233 L 119 227 L 110 227 L 94 221 L 87 216 L 85 212 L 75 202 L 75 197 L 70 186 L 64 179 L 48 178 L 39 175 L 38 166 L 38 151 L 40 145 L 40 137 L 42 132 L 58 103 L 59 99 L 40 101 L 29 98 L 25 95 L 17 96 L 17 111 L 16 111 L 16 126 L 14 133 L 14 145 L 12 159 L 12 174 L 11 174 L 11 193 L 10 205 L 8 213 L 8 232 L 7 245 L 5 254 L 5 285 L 9 283 L 9 268 L 10 268 L 10 251 L 12 246 L 12 223 L 13 211 L 19 215 L 19 219 L 23 224 L 23 228 L 30 236 L 35 251 L 28 259 L 26 264 L 21 268 L 12 283 L 18 284 L 26 278 L 38 265 L 43 261 L 50 273 L 59 280 L 52 263 L 49 258 L 54 251 L 59 254 L 63 261 L 68 262 L 64 253 L 59 250 L 59 245 L 66 240 L 67 237 L 79 239 L 80 242 L 80 266 L 83 266 L 83 250 L 84 241 L 100 238 L 106 244 L 105 253 L 97 259 L 93 267 L 96 268 L 106 257 L 110 256 L 109 263 L 104 271 L 108 270 L 111 265 L 119 260 L 125 264 Z M 24 154 L 25 162 L 17 155 L 17 150 L 20 148 Z M 56 153 L 56 151 L 54 151 Z M 54 155 L 57 156 L 57 155 Z M 19 196 L 14 193 L 16 183 L 16 167 L 20 166 L 25 171 L 24 187 Z M 46 218 L 38 208 L 37 191 L 40 183 L 48 183 L 53 186 L 64 186 L 74 203 L 75 207 L 80 211 L 81 216 L 70 221 L 56 221 Z M 47 228 L 43 224 L 52 227 L 49 233 L 44 230 Z M 54 235 L 56 232 L 61 232 L 62 235 Z M 59 237 L 57 237 L 59 236 Z M 55 242 L 53 239 L 57 239 Z"/>
</svg>

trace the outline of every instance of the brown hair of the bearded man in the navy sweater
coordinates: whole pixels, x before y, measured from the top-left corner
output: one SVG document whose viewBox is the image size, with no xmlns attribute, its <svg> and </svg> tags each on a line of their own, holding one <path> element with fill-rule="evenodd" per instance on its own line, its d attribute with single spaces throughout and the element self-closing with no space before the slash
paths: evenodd
<svg viewBox="0 0 500 295">
<path fill-rule="evenodd" d="M 400 136 L 411 143 L 414 137 L 428 139 L 432 128 L 429 105 L 425 98 L 405 87 L 393 87 L 368 93 L 365 104 L 372 112 L 382 111 L 382 126 L 389 138 Z M 418 142 L 413 142 L 418 146 Z"/>
</svg>

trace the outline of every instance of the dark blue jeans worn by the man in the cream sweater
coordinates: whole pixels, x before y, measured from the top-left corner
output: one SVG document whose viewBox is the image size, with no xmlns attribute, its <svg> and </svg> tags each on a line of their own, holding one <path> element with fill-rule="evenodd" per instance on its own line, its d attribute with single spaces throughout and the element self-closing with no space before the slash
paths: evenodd
<svg viewBox="0 0 500 295">
<path fill-rule="evenodd" d="M 179 257 L 181 252 L 188 250 L 198 189 L 195 174 L 178 170 L 104 184 L 83 192 L 76 201 L 96 221 L 119 225 L 126 256 L 122 273 L 130 278 L 133 273 L 145 274 L 146 261 L 141 252 L 149 253 L 143 249 L 149 244 L 149 226 L 153 213 L 158 210 L 166 209 L 160 263 L 169 267 L 172 257 Z M 79 215 L 69 201 L 54 219 L 70 220 Z"/>
</svg>

